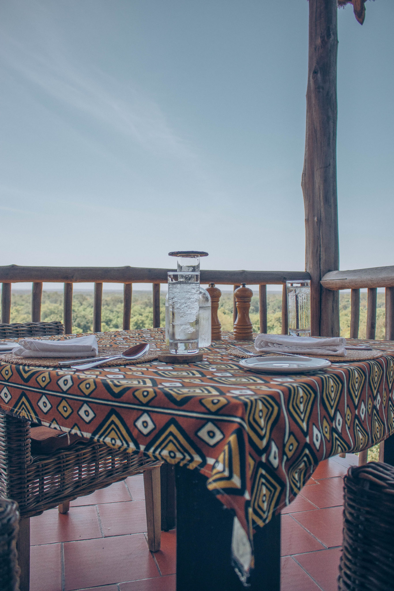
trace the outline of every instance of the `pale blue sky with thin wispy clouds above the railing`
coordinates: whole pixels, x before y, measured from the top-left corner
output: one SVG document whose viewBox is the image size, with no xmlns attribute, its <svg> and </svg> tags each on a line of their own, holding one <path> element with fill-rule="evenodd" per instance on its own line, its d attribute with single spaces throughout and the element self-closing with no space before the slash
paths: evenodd
<svg viewBox="0 0 394 591">
<path fill-rule="evenodd" d="M 338 11 L 340 267 L 393 264 L 394 2 Z M 303 269 L 306 0 L 0 5 L 2 263 Z"/>
</svg>

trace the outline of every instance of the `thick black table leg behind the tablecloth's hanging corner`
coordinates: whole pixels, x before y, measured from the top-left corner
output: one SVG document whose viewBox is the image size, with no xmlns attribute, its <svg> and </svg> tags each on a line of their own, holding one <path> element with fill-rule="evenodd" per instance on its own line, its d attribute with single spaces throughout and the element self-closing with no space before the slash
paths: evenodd
<svg viewBox="0 0 394 591">
<path fill-rule="evenodd" d="M 175 468 L 177 484 L 177 591 L 243 591 L 231 564 L 233 512 L 208 491 L 196 470 Z M 250 591 L 279 591 L 281 516 L 258 528 Z"/>
</svg>

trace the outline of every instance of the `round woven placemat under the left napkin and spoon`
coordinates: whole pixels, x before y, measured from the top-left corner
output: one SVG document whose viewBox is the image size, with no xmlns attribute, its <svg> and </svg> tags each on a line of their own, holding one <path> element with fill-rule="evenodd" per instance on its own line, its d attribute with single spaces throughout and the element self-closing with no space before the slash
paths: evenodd
<svg viewBox="0 0 394 591">
<path fill-rule="evenodd" d="M 103 355 L 121 355 L 125 349 L 115 349 L 115 348 L 107 348 L 107 347 L 99 347 L 99 356 Z M 113 359 L 113 361 L 106 361 L 102 363 L 102 365 L 97 366 L 97 369 L 100 368 L 115 368 L 121 367 L 122 365 L 136 365 L 137 363 L 149 363 L 149 361 L 154 361 L 157 359 L 159 350 L 158 349 L 149 349 L 145 355 L 139 357 L 138 359 Z M 72 356 L 70 356 L 72 359 Z M 81 358 L 80 358 L 81 359 Z M 80 361 L 80 359 L 75 360 L 75 365 Z M 58 357 L 17 357 L 16 355 L 12 355 L 12 353 L 4 353 L 4 355 L 0 355 L 0 361 L 4 363 L 14 363 L 14 365 L 31 365 L 32 367 L 44 367 L 44 368 L 57 368 L 61 367 L 58 365 L 59 361 L 66 361 L 65 357 L 58 358 Z M 92 363 L 95 361 L 95 358 L 92 357 Z M 88 363 L 87 361 L 84 363 Z M 69 369 L 69 368 L 61 368 L 61 369 Z"/>
</svg>

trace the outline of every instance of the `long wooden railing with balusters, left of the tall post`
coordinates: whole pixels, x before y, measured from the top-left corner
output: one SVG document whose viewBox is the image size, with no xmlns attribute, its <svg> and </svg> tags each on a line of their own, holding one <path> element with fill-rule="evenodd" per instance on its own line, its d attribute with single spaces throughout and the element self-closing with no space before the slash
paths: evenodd
<svg viewBox="0 0 394 591">
<path fill-rule="evenodd" d="M 123 283 L 123 330 L 130 329 L 132 285 L 133 283 L 153 284 L 153 326 L 160 326 L 160 284 L 167 284 L 167 272 L 174 269 L 155 269 L 142 267 L 19 267 L 9 265 L 0 267 L 1 322 L 9 323 L 11 316 L 11 284 L 20 282 L 32 283 L 31 320 L 41 320 L 41 297 L 43 282 L 63 283 L 63 323 L 66 334 L 71 334 L 73 323 L 73 284 L 94 283 L 93 296 L 93 331 L 101 330 L 101 310 L 103 283 Z M 267 332 L 267 285 L 282 285 L 282 333 L 287 334 L 287 298 L 286 281 L 310 279 L 305 271 L 211 271 L 202 270 L 202 285 L 211 282 L 219 285 L 233 285 L 234 289 L 241 283 L 259 285 L 259 316 L 260 332 Z M 234 320 L 236 307 L 234 306 Z"/>
</svg>

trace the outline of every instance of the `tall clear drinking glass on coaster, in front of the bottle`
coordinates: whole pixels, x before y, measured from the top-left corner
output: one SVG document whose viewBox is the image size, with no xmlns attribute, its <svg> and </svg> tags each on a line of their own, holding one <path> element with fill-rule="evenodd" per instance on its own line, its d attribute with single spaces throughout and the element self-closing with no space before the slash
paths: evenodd
<svg viewBox="0 0 394 591">
<path fill-rule="evenodd" d="M 197 353 L 200 273 L 168 273 L 170 353 Z"/>
</svg>

